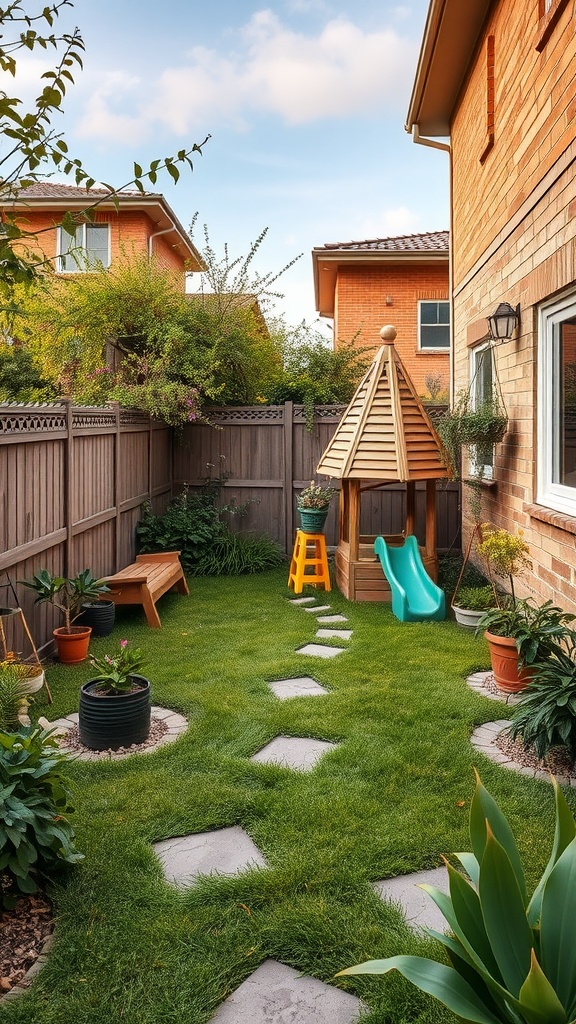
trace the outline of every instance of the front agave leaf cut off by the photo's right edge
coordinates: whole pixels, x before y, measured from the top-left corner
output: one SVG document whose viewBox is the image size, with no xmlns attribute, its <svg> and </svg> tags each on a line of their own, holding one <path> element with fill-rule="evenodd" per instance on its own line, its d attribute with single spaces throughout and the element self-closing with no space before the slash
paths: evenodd
<svg viewBox="0 0 576 1024">
<path fill-rule="evenodd" d="M 576 839 L 552 867 L 540 913 L 540 958 L 560 1001 L 573 1016 L 576 1006 Z"/>
</svg>

